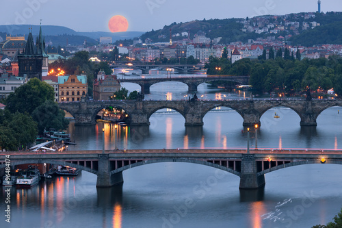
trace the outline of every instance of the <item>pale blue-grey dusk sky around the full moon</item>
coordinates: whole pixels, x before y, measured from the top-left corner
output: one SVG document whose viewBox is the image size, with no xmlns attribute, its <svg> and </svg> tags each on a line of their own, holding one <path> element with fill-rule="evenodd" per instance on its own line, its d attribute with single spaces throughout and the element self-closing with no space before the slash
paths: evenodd
<svg viewBox="0 0 342 228">
<path fill-rule="evenodd" d="M 127 31 L 161 29 L 173 22 L 317 11 L 317 0 L 10 0 L 0 24 L 61 25 L 75 31 L 109 31 L 111 16 L 127 18 Z M 321 0 L 321 11 L 342 11 L 341 0 Z"/>
</svg>

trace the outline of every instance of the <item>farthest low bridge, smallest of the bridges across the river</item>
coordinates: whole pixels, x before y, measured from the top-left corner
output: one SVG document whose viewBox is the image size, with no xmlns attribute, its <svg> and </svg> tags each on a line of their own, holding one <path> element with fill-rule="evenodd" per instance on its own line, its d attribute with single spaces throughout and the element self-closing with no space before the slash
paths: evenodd
<svg viewBox="0 0 342 228">
<path fill-rule="evenodd" d="M 187 73 L 189 70 L 194 70 L 196 65 L 194 64 L 158 64 L 158 65 L 148 65 L 148 64 L 143 64 L 143 65 L 135 65 L 133 64 L 132 66 L 126 65 L 126 64 L 114 64 L 109 66 L 111 69 L 114 68 L 133 68 L 137 70 L 141 70 L 143 74 L 148 74 L 150 69 L 155 69 L 155 68 L 174 68 L 178 70 L 180 73 Z"/>
</svg>

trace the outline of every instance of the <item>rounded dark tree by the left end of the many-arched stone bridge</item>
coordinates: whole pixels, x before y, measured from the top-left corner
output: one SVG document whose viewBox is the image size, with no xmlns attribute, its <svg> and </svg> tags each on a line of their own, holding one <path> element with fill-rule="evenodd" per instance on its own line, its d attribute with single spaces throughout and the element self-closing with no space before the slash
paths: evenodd
<svg viewBox="0 0 342 228">
<path fill-rule="evenodd" d="M 36 107 L 32 112 L 32 117 L 38 123 L 38 133 L 42 134 L 44 129 L 66 129 L 69 121 L 64 118 L 65 112 L 60 110 L 57 103 L 53 101 L 45 101 L 40 106 Z"/>
</svg>

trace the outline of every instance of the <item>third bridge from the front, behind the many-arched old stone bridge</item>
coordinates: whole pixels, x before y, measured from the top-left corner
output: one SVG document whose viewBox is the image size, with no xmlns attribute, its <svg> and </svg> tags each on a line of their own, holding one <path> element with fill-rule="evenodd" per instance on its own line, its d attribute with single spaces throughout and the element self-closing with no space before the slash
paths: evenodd
<svg viewBox="0 0 342 228">
<path fill-rule="evenodd" d="M 150 93 L 150 86 L 165 81 L 180 81 L 187 84 L 189 92 L 197 91 L 197 86 L 209 81 L 233 81 L 235 84 L 248 84 L 250 76 L 231 76 L 231 75 L 210 75 L 208 77 L 169 77 L 169 78 L 137 78 L 137 79 L 120 79 L 120 82 L 131 82 L 141 86 L 142 92 Z"/>
</svg>

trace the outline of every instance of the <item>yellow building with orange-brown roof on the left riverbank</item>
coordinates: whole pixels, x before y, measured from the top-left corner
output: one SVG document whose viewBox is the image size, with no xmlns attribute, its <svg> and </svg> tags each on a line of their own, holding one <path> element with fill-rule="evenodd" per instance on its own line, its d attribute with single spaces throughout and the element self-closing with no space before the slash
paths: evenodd
<svg viewBox="0 0 342 228">
<path fill-rule="evenodd" d="M 58 101 L 81 101 L 88 92 L 86 75 L 58 76 Z"/>
</svg>

